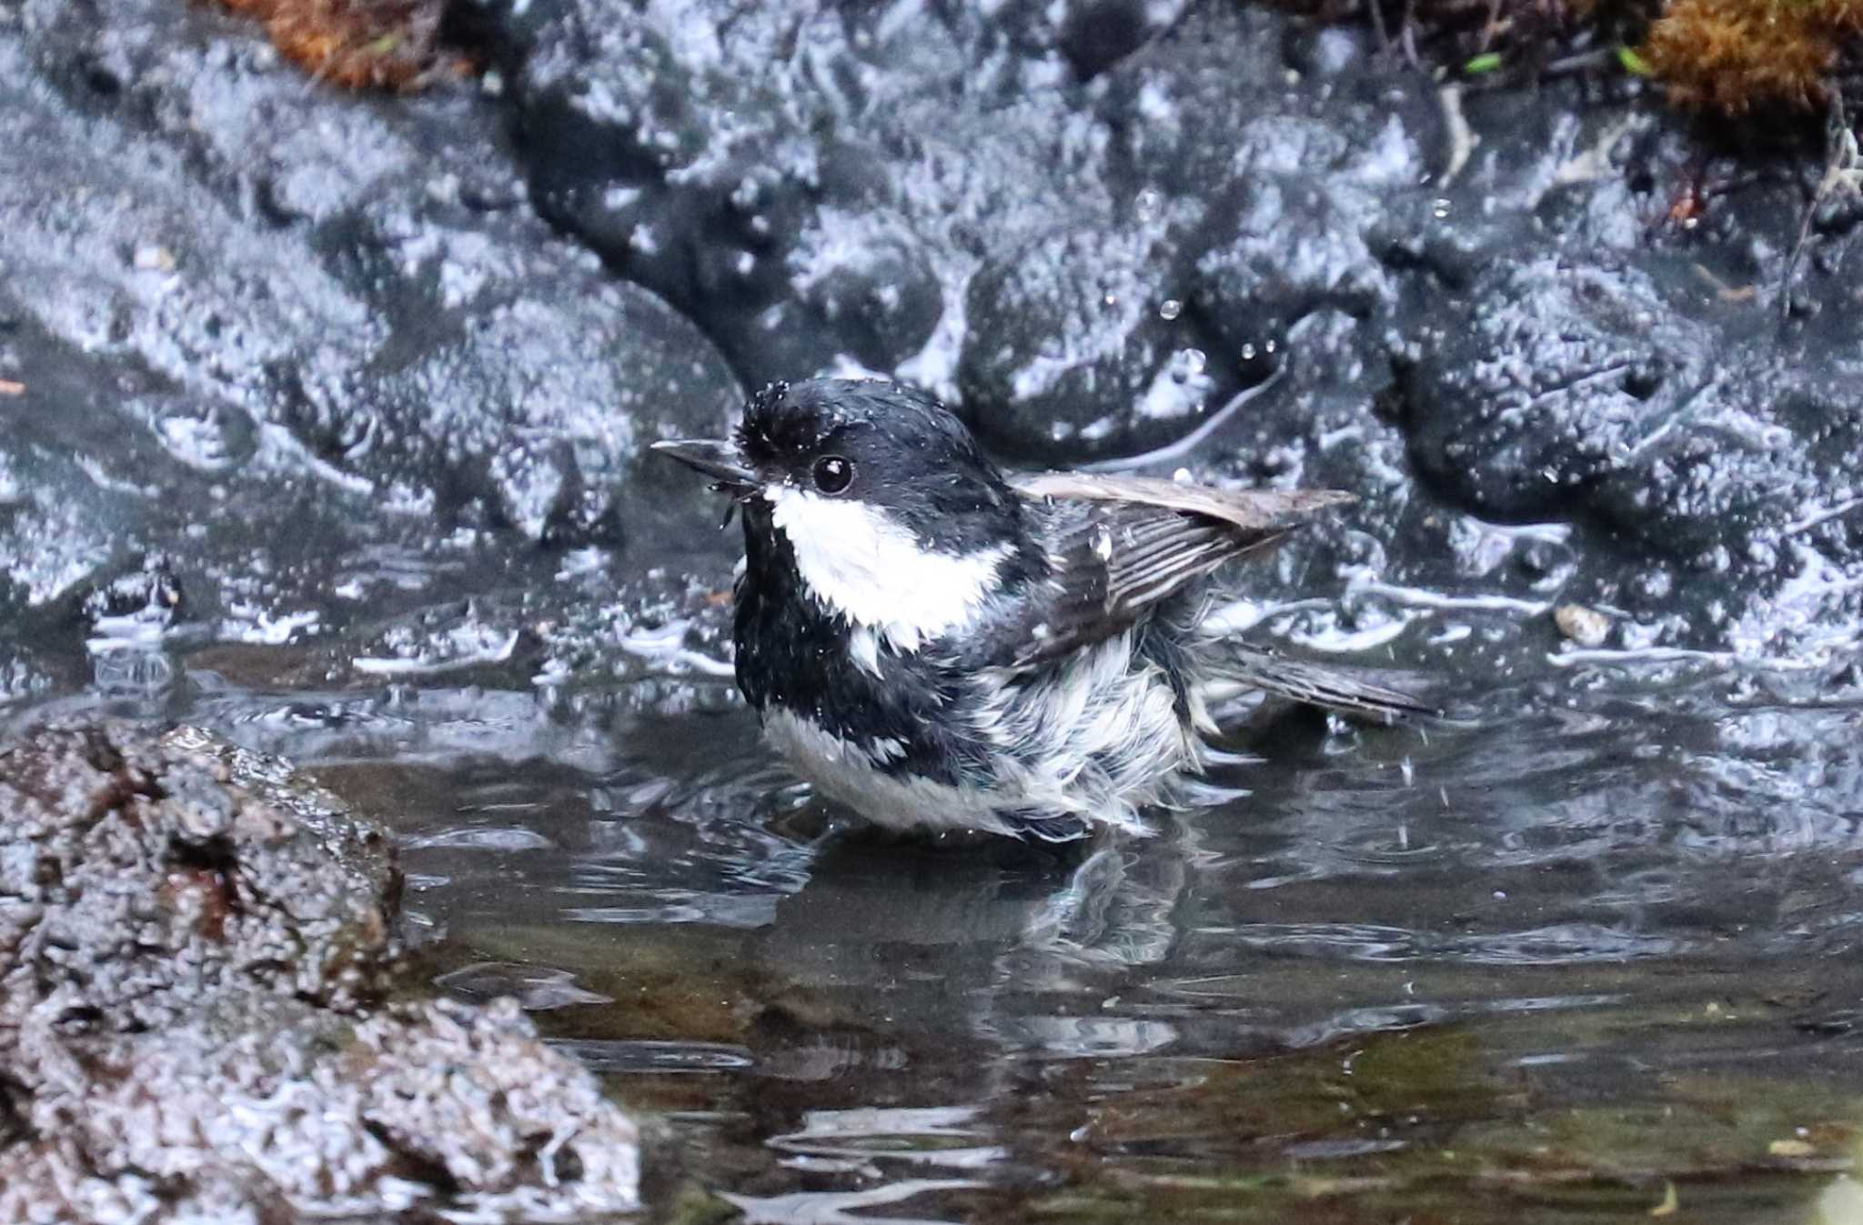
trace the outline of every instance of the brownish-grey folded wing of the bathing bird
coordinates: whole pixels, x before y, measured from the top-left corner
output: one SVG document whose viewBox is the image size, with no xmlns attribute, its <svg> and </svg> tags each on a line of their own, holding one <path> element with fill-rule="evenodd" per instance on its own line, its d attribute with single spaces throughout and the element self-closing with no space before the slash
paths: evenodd
<svg viewBox="0 0 1863 1225">
<path fill-rule="evenodd" d="M 1332 490 L 1213 490 L 1176 480 L 1034 473 L 1010 482 L 1043 503 L 1049 577 L 1028 609 L 1017 665 L 1054 659 L 1136 622 L 1224 562 L 1271 551 Z"/>
</svg>

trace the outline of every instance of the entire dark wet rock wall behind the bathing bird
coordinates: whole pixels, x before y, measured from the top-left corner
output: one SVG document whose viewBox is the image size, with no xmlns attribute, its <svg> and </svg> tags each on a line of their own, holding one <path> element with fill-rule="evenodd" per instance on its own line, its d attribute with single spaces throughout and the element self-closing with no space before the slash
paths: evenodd
<svg viewBox="0 0 1863 1225">
<path fill-rule="evenodd" d="M 37 676 L 166 693 L 140 637 L 479 666 L 402 650 L 436 618 L 516 642 L 514 685 L 632 676 L 645 607 L 715 629 L 734 553 L 643 445 L 822 370 L 1019 465 L 1353 490 L 1272 575 L 1347 594 L 1313 640 L 1863 614 L 1856 209 L 1794 261 L 1796 153 L 1246 6 L 455 9 L 483 88 L 369 104 L 168 0 L 0 20 L 0 380 L 47 410 L 0 415 L 0 616 L 61 637 Z M 71 614 L 151 557 L 173 616 Z"/>
</svg>

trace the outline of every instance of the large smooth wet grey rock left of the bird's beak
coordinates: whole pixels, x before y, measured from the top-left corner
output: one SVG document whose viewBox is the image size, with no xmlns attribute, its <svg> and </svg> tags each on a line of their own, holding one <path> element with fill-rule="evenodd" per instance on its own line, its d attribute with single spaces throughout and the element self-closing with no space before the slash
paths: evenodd
<svg viewBox="0 0 1863 1225">
<path fill-rule="evenodd" d="M 151 639 L 283 642 L 341 633 L 352 583 L 378 616 L 443 586 L 384 555 L 689 555 L 710 512 L 658 497 L 645 447 L 714 432 L 738 385 L 524 207 L 468 88 L 330 95 L 160 0 L 26 6 L 0 65 L 0 378 L 28 410 L 0 421 L 0 601 L 82 603 L 160 555 L 192 626 Z"/>
</svg>

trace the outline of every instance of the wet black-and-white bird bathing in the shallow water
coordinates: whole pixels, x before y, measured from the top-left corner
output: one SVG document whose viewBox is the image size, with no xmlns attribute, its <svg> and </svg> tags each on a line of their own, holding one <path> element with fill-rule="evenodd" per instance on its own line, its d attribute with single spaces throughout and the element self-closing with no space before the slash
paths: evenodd
<svg viewBox="0 0 1863 1225">
<path fill-rule="evenodd" d="M 775 382 L 728 439 L 654 451 L 743 519 L 734 670 L 818 795 L 891 830 L 1146 836 L 1258 689 L 1382 719 L 1431 711 L 1203 620 L 1215 575 L 1274 551 L 1330 490 L 1012 475 L 933 395 Z"/>
</svg>

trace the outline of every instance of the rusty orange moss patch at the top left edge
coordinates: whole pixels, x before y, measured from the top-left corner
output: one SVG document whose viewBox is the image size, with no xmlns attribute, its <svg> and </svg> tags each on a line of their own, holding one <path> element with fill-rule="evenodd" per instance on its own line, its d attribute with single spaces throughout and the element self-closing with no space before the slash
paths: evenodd
<svg viewBox="0 0 1863 1225">
<path fill-rule="evenodd" d="M 443 0 L 222 0 L 265 22 L 272 43 L 320 80 L 350 89 L 419 89 L 473 71 L 440 41 Z"/>
</svg>

